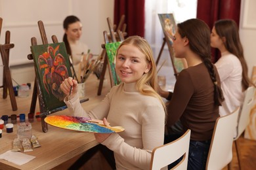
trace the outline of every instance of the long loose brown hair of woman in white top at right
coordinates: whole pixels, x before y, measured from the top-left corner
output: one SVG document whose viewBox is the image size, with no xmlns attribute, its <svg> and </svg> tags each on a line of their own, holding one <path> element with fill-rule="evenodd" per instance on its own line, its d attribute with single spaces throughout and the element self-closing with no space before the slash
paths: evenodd
<svg viewBox="0 0 256 170">
<path fill-rule="evenodd" d="M 234 20 L 218 20 L 215 22 L 215 29 L 219 37 L 225 38 L 224 46 L 228 52 L 234 54 L 242 65 L 242 86 L 244 90 L 249 87 L 248 67 L 244 58 L 244 50 L 238 33 L 238 25 Z"/>
</svg>

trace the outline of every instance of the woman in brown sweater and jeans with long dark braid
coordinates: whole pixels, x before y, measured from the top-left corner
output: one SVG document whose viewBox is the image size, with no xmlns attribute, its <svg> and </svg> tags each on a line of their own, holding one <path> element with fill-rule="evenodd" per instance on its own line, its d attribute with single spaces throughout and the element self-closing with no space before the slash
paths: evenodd
<svg viewBox="0 0 256 170">
<path fill-rule="evenodd" d="M 224 100 L 221 82 L 211 63 L 211 32 L 207 24 L 190 19 L 177 27 L 173 50 L 177 58 L 186 59 L 188 68 L 177 76 L 173 93 L 163 91 L 161 96 L 170 99 L 167 126 L 181 120 L 183 131 L 191 129 L 188 169 L 205 169 L 219 106 Z M 165 143 L 181 135 L 167 135 Z"/>
</svg>

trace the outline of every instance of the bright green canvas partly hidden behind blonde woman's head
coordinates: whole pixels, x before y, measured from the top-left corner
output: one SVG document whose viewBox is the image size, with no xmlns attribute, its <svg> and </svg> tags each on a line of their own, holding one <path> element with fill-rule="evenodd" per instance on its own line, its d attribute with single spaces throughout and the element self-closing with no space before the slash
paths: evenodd
<svg viewBox="0 0 256 170">
<path fill-rule="evenodd" d="M 116 75 L 116 69 L 115 69 L 116 50 L 120 44 L 121 42 L 110 42 L 105 44 L 106 52 L 108 55 L 108 61 L 110 63 L 110 69 L 111 69 L 115 86 L 120 82 L 119 77 Z"/>
</svg>

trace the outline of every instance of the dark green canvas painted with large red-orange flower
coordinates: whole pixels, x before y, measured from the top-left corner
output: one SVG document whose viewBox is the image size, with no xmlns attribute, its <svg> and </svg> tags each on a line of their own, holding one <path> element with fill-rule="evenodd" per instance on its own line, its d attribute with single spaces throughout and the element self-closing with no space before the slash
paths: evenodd
<svg viewBox="0 0 256 170">
<path fill-rule="evenodd" d="M 64 42 L 31 46 L 31 51 L 39 95 L 43 99 L 43 110 L 63 107 L 65 94 L 60 90 L 60 84 L 65 78 L 72 76 Z"/>
</svg>

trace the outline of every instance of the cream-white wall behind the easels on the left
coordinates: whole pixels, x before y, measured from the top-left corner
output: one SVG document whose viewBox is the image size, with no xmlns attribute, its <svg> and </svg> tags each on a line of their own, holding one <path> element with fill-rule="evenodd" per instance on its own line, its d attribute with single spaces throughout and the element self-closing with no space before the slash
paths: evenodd
<svg viewBox="0 0 256 170">
<path fill-rule="evenodd" d="M 37 44 L 42 43 L 37 22 L 43 21 L 49 43 L 53 42 L 52 35 L 62 42 L 62 22 L 70 14 L 78 16 L 83 24 L 81 41 L 88 44 L 93 54 L 100 53 L 103 31 L 108 30 L 106 18 L 114 18 L 114 0 L 0 0 L 0 17 L 3 18 L 0 43 L 5 42 L 5 31 L 11 31 L 14 43 L 10 52 L 11 74 L 18 83 L 34 78 L 33 61 L 29 61 L 27 55 L 31 53 L 32 37 L 37 38 Z"/>
</svg>

